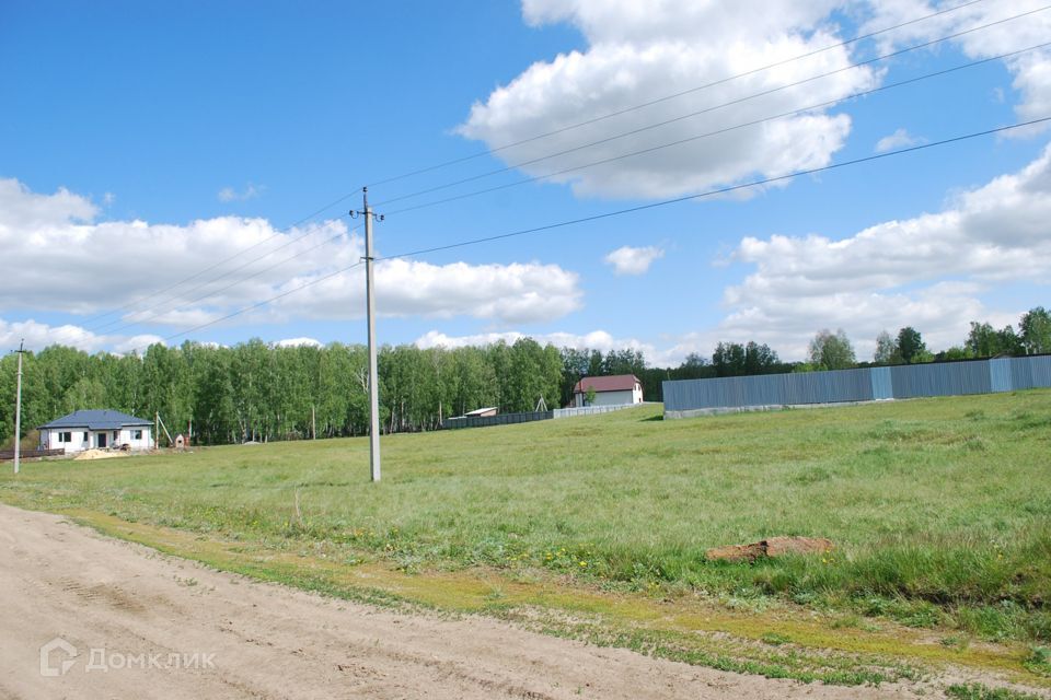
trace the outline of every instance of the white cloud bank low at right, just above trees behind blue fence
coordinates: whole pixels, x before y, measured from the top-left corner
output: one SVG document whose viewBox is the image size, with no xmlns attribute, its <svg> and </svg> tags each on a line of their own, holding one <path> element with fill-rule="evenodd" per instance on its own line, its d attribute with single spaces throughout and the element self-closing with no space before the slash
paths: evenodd
<svg viewBox="0 0 1051 700">
<path fill-rule="evenodd" d="M 1051 278 L 1051 147 L 1021 171 L 963 192 L 943 211 L 887 221 L 845 237 L 746 237 L 735 258 L 754 266 L 727 288 L 719 330 L 769 341 L 800 359 L 819 328 L 843 327 L 859 357 L 876 335 L 911 325 L 933 348 L 959 343 L 971 320 L 997 326 L 1026 310 L 989 308 L 1005 282 Z"/>
</svg>

